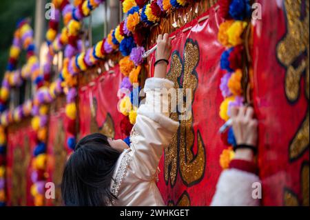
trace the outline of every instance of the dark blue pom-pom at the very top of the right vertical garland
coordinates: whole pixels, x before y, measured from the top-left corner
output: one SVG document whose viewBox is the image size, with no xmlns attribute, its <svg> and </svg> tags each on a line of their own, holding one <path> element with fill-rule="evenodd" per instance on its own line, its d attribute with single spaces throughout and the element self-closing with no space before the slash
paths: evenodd
<svg viewBox="0 0 310 220">
<path fill-rule="evenodd" d="M 229 14 L 235 20 L 244 20 L 251 15 L 249 0 L 232 0 Z"/>
</svg>

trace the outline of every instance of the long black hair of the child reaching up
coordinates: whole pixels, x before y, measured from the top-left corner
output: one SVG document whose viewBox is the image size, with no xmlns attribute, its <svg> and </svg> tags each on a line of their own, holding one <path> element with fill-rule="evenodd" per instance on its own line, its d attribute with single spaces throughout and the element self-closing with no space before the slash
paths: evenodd
<svg viewBox="0 0 310 220">
<path fill-rule="evenodd" d="M 65 206 L 106 206 L 116 199 L 110 186 L 119 155 L 103 134 L 81 139 L 63 170 Z"/>
</svg>

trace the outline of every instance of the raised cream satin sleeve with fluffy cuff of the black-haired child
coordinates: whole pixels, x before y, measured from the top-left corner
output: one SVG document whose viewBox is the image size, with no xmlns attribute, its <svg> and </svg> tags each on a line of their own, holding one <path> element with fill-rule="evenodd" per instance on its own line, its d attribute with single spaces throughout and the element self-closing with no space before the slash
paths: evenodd
<svg viewBox="0 0 310 220">
<path fill-rule="evenodd" d="M 169 103 L 165 91 L 170 88 L 174 88 L 174 83 L 167 79 L 150 78 L 145 81 L 145 104 L 137 111 L 130 135 L 132 172 L 146 181 L 154 179 L 163 149 L 169 146 L 178 130 L 179 123 L 169 118 L 169 111 L 161 108 Z"/>
</svg>

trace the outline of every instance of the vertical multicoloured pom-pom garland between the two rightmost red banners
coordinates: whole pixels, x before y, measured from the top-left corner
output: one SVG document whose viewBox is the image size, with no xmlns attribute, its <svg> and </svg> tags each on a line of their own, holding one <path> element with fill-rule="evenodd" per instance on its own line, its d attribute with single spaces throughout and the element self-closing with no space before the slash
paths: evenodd
<svg viewBox="0 0 310 220">
<path fill-rule="evenodd" d="M 243 20 L 249 18 L 251 6 L 249 0 L 222 0 L 219 1 L 219 5 L 220 16 L 225 18 L 225 21 L 220 24 L 218 41 L 226 48 L 220 58 L 220 68 L 226 73 L 220 79 L 220 90 L 224 101 L 220 105 L 219 114 L 221 119 L 228 121 L 231 108 L 243 106 L 245 101 L 242 97 L 244 91 L 241 84 L 244 50 L 242 33 L 248 26 L 248 23 Z M 220 166 L 226 169 L 234 158 L 231 146 L 236 146 L 232 128 L 222 134 L 221 138 L 228 146 L 220 155 Z"/>
</svg>

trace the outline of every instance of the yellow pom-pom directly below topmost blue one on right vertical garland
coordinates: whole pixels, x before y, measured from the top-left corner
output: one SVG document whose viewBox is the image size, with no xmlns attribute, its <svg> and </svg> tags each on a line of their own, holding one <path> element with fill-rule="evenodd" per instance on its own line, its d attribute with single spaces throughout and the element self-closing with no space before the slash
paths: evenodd
<svg viewBox="0 0 310 220">
<path fill-rule="evenodd" d="M 227 30 L 228 41 L 231 46 L 242 44 L 242 33 L 247 28 L 247 22 L 235 21 Z"/>
</svg>

